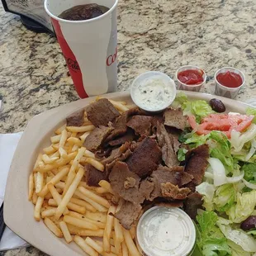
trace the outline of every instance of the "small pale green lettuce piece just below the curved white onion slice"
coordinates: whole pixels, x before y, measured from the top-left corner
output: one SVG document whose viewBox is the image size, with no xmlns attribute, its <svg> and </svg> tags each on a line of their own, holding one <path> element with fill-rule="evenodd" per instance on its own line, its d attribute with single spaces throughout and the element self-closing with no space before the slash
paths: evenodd
<svg viewBox="0 0 256 256">
<path fill-rule="evenodd" d="M 213 202 L 215 209 L 224 212 L 235 204 L 236 191 L 233 184 L 224 184 L 216 189 Z"/>
</svg>

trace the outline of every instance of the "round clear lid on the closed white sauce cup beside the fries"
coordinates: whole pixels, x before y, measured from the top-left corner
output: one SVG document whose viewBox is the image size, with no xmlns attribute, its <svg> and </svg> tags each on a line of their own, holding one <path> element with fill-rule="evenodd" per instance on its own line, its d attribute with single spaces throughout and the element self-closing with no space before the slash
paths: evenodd
<svg viewBox="0 0 256 256">
<path fill-rule="evenodd" d="M 194 247 L 196 230 L 181 209 L 154 206 L 140 217 L 136 238 L 145 255 L 184 256 Z"/>
</svg>

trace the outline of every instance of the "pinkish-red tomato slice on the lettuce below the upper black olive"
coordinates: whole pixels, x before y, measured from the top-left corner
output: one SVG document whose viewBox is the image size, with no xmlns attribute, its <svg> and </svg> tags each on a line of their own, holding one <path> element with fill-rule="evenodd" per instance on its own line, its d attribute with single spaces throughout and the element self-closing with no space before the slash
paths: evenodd
<svg viewBox="0 0 256 256">
<path fill-rule="evenodd" d="M 201 124 L 197 124 L 195 116 L 188 116 L 188 122 L 193 130 L 197 130 L 198 135 L 206 135 L 211 130 L 220 130 L 228 138 L 231 131 L 239 132 L 246 130 L 254 120 L 254 116 L 246 115 L 227 115 L 227 114 L 211 114 L 201 120 Z"/>
</svg>

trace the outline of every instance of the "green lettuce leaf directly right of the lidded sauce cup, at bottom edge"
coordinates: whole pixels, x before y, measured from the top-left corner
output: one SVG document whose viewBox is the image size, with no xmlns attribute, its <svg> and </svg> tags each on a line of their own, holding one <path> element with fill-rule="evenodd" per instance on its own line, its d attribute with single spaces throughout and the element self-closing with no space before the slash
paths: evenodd
<svg viewBox="0 0 256 256">
<path fill-rule="evenodd" d="M 197 215 L 197 246 L 203 255 L 231 255 L 227 239 L 216 225 L 218 216 L 213 211 L 204 211 Z"/>
</svg>

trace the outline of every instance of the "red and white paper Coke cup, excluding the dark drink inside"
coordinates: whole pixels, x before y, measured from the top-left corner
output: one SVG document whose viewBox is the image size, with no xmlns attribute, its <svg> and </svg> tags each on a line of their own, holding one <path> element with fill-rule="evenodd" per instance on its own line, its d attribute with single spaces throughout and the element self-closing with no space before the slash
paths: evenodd
<svg viewBox="0 0 256 256">
<path fill-rule="evenodd" d="M 59 18 L 65 10 L 87 3 L 110 8 L 102 16 L 86 21 Z M 45 0 L 64 58 L 81 98 L 117 89 L 117 28 L 118 0 Z"/>
</svg>

